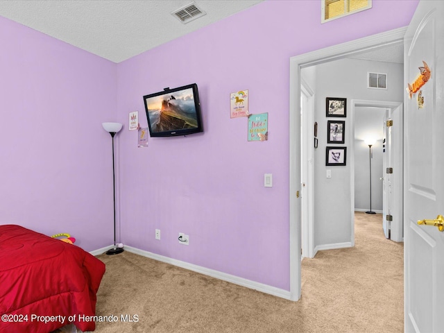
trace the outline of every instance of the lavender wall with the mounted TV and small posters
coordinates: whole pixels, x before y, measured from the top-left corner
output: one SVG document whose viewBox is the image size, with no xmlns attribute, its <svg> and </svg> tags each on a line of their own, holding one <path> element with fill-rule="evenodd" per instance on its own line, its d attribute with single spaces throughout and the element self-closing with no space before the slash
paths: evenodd
<svg viewBox="0 0 444 333">
<path fill-rule="evenodd" d="M 135 131 L 119 134 L 121 240 L 289 290 L 289 58 L 407 26 L 417 3 L 373 0 L 320 24 L 321 1 L 266 1 L 119 64 L 119 121 L 139 110 L 146 126 L 144 94 L 195 82 L 205 126 L 148 148 L 137 148 Z M 239 89 L 250 113 L 268 112 L 268 142 L 247 142 L 247 120 L 230 119 Z"/>
</svg>

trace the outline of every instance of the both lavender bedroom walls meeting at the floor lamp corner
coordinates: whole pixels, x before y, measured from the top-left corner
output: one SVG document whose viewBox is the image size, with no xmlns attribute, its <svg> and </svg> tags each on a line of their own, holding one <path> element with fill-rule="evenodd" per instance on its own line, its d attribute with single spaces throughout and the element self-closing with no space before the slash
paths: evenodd
<svg viewBox="0 0 444 333">
<path fill-rule="evenodd" d="M 373 0 L 321 25 L 320 1 L 266 1 L 119 65 L 0 17 L 0 224 L 69 232 L 85 250 L 109 245 L 111 139 L 101 122 L 121 121 L 121 240 L 289 290 L 289 58 L 406 26 L 416 5 Z M 205 133 L 137 148 L 128 112 L 146 126 L 144 94 L 193 82 Z M 268 112 L 268 142 L 247 142 L 247 120 L 230 119 L 239 89 L 251 113 Z"/>
</svg>

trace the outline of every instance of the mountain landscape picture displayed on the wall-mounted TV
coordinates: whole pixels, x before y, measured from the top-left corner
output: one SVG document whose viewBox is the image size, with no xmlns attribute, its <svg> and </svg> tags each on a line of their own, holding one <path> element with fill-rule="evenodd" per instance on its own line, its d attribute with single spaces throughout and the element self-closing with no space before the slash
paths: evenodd
<svg viewBox="0 0 444 333">
<path fill-rule="evenodd" d="M 149 97 L 146 105 L 153 132 L 198 127 L 193 88 Z"/>
</svg>

